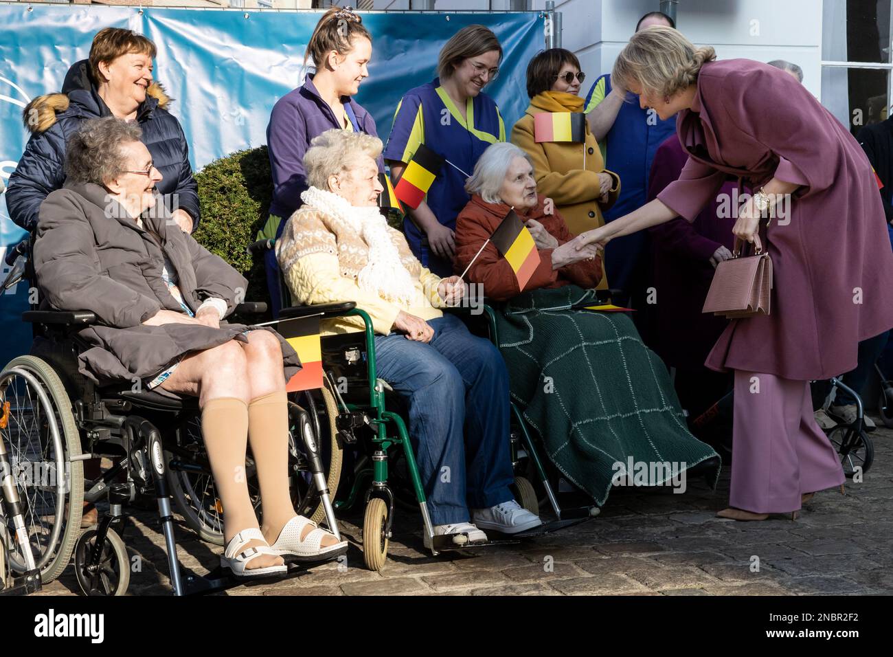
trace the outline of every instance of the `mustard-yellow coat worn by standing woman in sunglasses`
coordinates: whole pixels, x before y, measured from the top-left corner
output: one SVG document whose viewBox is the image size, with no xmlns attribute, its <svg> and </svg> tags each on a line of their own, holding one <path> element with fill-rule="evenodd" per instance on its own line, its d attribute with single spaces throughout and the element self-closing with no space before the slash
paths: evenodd
<svg viewBox="0 0 893 657">
<path fill-rule="evenodd" d="M 577 107 L 579 105 L 579 108 Z M 595 136 L 586 123 L 586 142 L 537 142 L 533 117 L 541 112 L 582 112 L 583 99 L 559 91 L 546 91 L 530 100 L 525 114 L 514 124 L 512 143 L 533 161 L 537 191 L 555 201 L 555 208 L 575 235 L 604 225 L 602 211 L 613 206 L 620 194 L 620 176 L 605 169 Z M 583 149 L 586 148 L 586 168 Z M 598 173 L 609 173 L 613 186 L 605 204 L 599 202 Z M 603 278 L 604 282 L 605 279 Z"/>
</svg>

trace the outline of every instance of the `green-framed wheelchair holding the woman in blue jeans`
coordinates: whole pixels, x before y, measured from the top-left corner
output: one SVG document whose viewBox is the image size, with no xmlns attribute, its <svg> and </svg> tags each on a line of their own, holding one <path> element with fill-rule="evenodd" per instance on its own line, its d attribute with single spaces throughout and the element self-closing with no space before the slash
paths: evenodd
<svg viewBox="0 0 893 657">
<path fill-rule="evenodd" d="M 259 240 L 247 247 L 251 255 L 262 255 L 274 248 L 275 240 Z M 521 411 L 512 404 L 511 453 L 516 500 L 539 515 L 541 502 L 548 502 L 555 520 L 514 535 L 488 531 L 487 543 L 457 546 L 449 536 L 435 536 L 424 488 L 416 466 L 413 445 L 406 423 L 397 410 L 388 383 L 376 374 L 375 333 L 371 318 L 354 302 L 292 306 L 288 286 L 280 275 L 280 320 L 318 316 L 321 320 L 355 316 L 363 320 L 363 331 L 340 333 L 321 338 L 323 375 L 337 400 L 335 425 L 338 449 L 345 451 L 344 463 L 354 459 L 353 467 L 342 466 L 341 487 L 335 497 L 335 510 L 355 507 L 363 500 L 363 561 L 367 569 L 384 568 L 388 557 L 395 507 L 421 512 L 423 531 L 430 539 L 431 552 L 474 550 L 486 545 L 517 543 L 523 538 L 544 535 L 579 524 L 598 514 L 598 508 L 585 504 L 563 508 L 555 493 L 555 468 L 539 456 L 539 451 Z M 480 316 L 469 308 L 450 308 L 470 327 L 472 333 L 497 341 L 495 310 L 483 305 Z M 350 456 L 347 454 L 349 453 Z M 531 484 L 536 481 L 540 493 Z"/>
</svg>

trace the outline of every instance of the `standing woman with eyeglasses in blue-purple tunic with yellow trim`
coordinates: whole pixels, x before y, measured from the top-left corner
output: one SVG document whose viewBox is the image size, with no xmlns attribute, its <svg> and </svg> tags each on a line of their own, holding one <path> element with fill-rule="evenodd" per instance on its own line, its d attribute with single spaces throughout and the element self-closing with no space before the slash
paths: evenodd
<svg viewBox="0 0 893 657">
<path fill-rule="evenodd" d="M 384 157 L 397 181 L 420 144 L 450 164 L 443 164 L 415 210 L 404 220 L 413 254 L 438 276 L 453 273 L 455 218 L 471 198 L 465 179 L 490 144 L 505 141 L 499 108 L 482 89 L 499 72 L 499 40 L 483 25 L 460 29 L 443 46 L 438 76 L 407 91 L 396 106 Z M 461 170 L 461 171 L 460 171 Z"/>
</svg>

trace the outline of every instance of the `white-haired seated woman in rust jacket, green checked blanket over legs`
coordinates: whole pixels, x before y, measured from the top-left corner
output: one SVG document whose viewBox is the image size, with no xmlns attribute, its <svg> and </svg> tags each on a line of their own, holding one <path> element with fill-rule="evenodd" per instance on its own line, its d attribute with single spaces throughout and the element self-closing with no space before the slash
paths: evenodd
<svg viewBox="0 0 893 657">
<path fill-rule="evenodd" d="M 513 400 L 530 426 L 548 427 L 537 431 L 563 476 L 599 506 L 614 485 L 682 485 L 698 464 L 715 484 L 719 457 L 689 433 L 666 367 L 630 317 L 597 299 L 599 252 L 578 249 L 562 216 L 537 194 L 530 156 L 510 143 L 488 147 L 465 189 L 472 198 L 456 220 L 455 266 L 471 265 L 469 281 L 503 302 L 499 347 Z M 528 258 L 536 266 L 523 288 L 488 242 L 511 211 L 532 237 Z"/>
</svg>

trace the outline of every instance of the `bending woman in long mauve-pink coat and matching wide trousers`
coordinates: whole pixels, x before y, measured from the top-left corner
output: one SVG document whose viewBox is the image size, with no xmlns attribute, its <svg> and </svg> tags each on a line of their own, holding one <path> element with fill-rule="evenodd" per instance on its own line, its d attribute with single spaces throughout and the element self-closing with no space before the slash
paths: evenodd
<svg viewBox="0 0 893 657">
<path fill-rule="evenodd" d="M 719 515 L 796 518 L 802 501 L 844 481 L 808 382 L 853 369 L 858 342 L 893 326 L 893 254 L 871 165 L 847 129 L 788 73 L 714 59 L 666 27 L 623 48 L 614 84 L 661 118 L 679 112 L 689 160 L 655 200 L 580 242 L 691 221 L 730 178 L 755 190 L 732 232 L 768 243 L 772 309 L 732 321 L 706 360 L 735 372 L 731 508 Z"/>
</svg>

